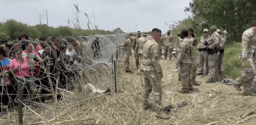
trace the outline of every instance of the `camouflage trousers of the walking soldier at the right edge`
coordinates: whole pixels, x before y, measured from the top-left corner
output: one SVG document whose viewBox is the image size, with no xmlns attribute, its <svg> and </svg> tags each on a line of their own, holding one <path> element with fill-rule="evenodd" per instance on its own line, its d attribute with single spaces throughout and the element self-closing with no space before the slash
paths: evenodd
<svg viewBox="0 0 256 125">
<path fill-rule="evenodd" d="M 243 74 L 235 80 L 237 83 L 244 83 L 244 93 L 251 92 L 251 85 L 256 73 L 255 58 L 248 58 L 248 60 L 252 62 L 252 67 L 244 66 Z M 243 63 L 243 58 L 241 58 L 241 62 Z"/>
</svg>

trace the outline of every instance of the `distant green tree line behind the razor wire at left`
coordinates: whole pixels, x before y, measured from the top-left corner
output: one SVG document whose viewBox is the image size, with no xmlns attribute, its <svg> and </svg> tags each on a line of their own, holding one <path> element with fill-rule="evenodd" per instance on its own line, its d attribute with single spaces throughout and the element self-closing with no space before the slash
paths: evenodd
<svg viewBox="0 0 256 125">
<path fill-rule="evenodd" d="M 124 33 L 120 28 L 112 31 L 104 30 L 78 30 L 72 29 L 69 26 L 59 26 L 57 28 L 44 25 L 29 26 L 26 23 L 13 19 L 6 20 L 5 23 L 0 23 L 0 40 L 13 41 L 18 38 L 20 33 L 24 32 L 30 38 L 38 39 L 41 37 L 72 37 L 72 36 L 88 36 L 95 34 L 115 34 Z"/>
</svg>

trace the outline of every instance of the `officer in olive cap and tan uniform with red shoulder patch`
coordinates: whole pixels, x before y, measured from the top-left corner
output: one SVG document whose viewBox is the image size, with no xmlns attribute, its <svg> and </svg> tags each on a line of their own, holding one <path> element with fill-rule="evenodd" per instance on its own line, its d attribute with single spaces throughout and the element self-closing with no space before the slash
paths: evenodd
<svg viewBox="0 0 256 125">
<path fill-rule="evenodd" d="M 209 66 L 209 75 L 210 78 L 205 81 L 205 83 L 214 83 L 216 82 L 217 73 L 218 73 L 218 63 L 219 63 L 219 46 L 221 43 L 221 37 L 217 33 L 217 27 L 211 26 L 210 32 L 212 33 L 212 41 L 209 41 L 209 47 L 207 51 L 209 52 L 208 57 L 208 66 Z"/>
</svg>

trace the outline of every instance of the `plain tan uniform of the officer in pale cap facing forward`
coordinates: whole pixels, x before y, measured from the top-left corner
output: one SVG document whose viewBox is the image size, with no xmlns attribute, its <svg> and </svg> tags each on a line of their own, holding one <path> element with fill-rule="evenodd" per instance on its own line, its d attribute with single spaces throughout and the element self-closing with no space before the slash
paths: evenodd
<svg viewBox="0 0 256 125">
<path fill-rule="evenodd" d="M 200 44 L 200 48 L 199 48 L 200 56 L 199 56 L 199 66 L 198 66 L 199 74 L 206 75 L 209 72 L 209 67 L 208 67 L 209 54 L 208 54 L 207 50 L 205 50 L 205 47 L 209 47 L 208 43 L 211 41 L 212 41 L 211 35 L 208 35 L 207 37 L 202 36 L 201 40 L 199 41 L 199 44 Z M 207 42 L 206 45 L 204 44 L 204 42 Z"/>
</svg>

